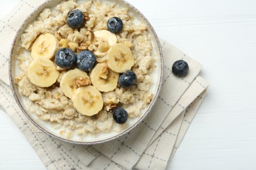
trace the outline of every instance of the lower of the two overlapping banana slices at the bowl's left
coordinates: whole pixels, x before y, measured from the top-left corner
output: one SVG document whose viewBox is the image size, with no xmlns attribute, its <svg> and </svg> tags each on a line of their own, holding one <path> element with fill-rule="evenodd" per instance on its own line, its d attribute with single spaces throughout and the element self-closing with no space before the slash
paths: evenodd
<svg viewBox="0 0 256 170">
<path fill-rule="evenodd" d="M 28 78 L 32 84 L 41 88 L 53 85 L 58 78 L 56 67 L 48 58 L 37 58 L 28 67 Z"/>
</svg>

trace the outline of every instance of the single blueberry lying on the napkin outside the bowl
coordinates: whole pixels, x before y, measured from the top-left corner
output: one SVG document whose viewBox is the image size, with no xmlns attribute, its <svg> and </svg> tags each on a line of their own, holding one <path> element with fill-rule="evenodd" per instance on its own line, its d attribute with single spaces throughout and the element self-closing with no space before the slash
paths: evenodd
<svg viewBox="0 0 256 170">
<path fill-rule="evenodd" d="M 186 76 L 188 74 L 188 63 L 184 60 L 178 60 L 173 63 L 173 74 L 176 76 Z"/>
</svg>

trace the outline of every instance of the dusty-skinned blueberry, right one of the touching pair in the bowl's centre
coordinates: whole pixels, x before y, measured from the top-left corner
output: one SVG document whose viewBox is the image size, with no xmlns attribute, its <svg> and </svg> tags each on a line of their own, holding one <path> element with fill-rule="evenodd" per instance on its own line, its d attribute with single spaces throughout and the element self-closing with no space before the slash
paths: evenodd
<svg viewBox="0 0 256 170">
<path fill-rule="evenodd" d="M 77 67 L 82 71 L 91 71 L 96 63 L 95 54 L 89 50 L 83 50 L 77 55 Z"/>
</svg>

